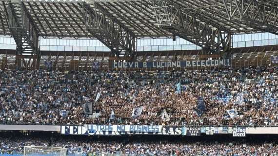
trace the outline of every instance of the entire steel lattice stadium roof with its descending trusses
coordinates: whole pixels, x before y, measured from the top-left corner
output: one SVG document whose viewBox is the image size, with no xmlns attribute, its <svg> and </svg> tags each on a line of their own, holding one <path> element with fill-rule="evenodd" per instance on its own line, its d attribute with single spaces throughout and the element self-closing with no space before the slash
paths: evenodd
<svg viewBox="0 0 278 156">
<path fill-rule="evenodd" d="M 39 55 L 38 37 L 96 38 L 133 58 L 136 39 L 178 36 L 220 53 L 235 33 L 278 35 L 277 0 L 1 0 L 0 35 L 18 54 Z"/>
</svg>

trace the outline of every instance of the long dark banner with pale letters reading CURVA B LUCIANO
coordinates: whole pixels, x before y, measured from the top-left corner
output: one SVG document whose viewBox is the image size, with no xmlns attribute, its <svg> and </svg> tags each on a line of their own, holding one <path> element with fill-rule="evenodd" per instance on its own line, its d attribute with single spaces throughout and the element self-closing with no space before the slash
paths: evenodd
<svg viewBox="0 0 278 156">
<path fill-rule="evenodd" d="M 206 67 L 230 66 L 226 60 L 190 60 L 190 61 L 160 61 L 160 62 L 114 62 L 113 68 L 176 68 L 176 67 Z"/>
</svg>

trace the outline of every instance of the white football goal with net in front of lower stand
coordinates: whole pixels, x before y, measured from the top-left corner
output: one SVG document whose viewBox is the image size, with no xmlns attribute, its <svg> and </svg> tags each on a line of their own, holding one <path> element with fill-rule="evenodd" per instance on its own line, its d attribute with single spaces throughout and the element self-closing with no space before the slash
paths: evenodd
<svg viewBox="0 0 278 156">
<path fill-rule="evenodd" d="M 62 147 L 24 146 L 23 156 L 66 156 L 67 149 Z"/>
</svg>

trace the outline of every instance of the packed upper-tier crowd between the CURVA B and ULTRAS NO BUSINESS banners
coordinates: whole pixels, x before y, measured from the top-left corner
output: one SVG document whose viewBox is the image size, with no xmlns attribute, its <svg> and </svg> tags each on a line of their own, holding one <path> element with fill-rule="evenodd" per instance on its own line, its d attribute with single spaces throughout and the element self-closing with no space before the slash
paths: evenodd
<svg viewBox="0 0 278 156">
<path fill-rule="evenodd" d="M 0 70 L 0 123 L 278 125 L 277 74 L 277 67 L 172 72 Z M 200 97 L 205 108 L 199 114 Z M 82 107 L 89 102 L 93 103 L 90 116 Z M 138 106 L 143 111 L 132 118 Z M 230 109 L 237 111 L 236 116 L 229 116 Z M 66 116 L 61 110 L 67 111 Z M 164 110 L 169 120 L 161 118 Z"/>
</svg>

